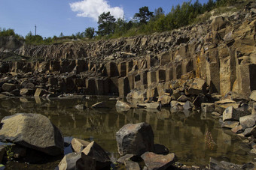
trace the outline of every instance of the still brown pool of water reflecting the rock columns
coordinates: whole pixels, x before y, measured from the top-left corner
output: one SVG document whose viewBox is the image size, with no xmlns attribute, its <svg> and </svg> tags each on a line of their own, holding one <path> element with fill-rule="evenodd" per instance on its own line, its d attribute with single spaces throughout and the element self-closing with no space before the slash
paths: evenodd
<svg viewBox="0 0 256 170">
<path fill-rule="evenodd" d="M 84 104 L 90 108 L 99 101 L 106 101 L 109 109 L 75 109 L 75 105 Z M 110 153 L 112 160 L 119 157 L 115 133 L 124 124 L 139 122 L 151 124 L 154 143 L 165 145 L 170 153 L 175 153 L 178 162 L 187 166 L 206 166 L 209 157 L 238 164 L 253 159 L 248 155 L 248 146 L 242 139 L 230 133 L 230 130 L 223 130 L 218 119 L 212 118 L 210 114 L 176 112 L 168 108 L 161 111 L 130 109 L 117 112 L 115 103 L 116 100 L 107 97 L 90 100 L 14 98 L 0 100 L 0 118 L 19 112 L 45 115 L 62 131 L 67 141 L 72 137 L 94 140 Z"/>
</svg>

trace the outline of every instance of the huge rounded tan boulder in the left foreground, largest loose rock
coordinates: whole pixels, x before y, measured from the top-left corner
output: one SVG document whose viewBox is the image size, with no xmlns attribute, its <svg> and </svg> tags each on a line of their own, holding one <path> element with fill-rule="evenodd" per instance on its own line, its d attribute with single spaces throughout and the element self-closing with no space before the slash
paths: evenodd
<svg viewBox="0 0 256 170">
<path fill-rule="evenodd" d="M 3 118 L 1 125 L 1 142 L 14 142 L 53 156 L 64 152 L 62 134 L 43 115 L 19 113 Z"/>
</svg>

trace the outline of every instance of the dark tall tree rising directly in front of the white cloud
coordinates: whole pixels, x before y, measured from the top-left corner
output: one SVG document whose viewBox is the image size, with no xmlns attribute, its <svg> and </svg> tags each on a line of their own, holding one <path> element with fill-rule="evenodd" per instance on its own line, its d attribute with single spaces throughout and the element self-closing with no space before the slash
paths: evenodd
<svg viewBox="0 0 256 170">
<path fill-rule="evenodd" d="M 98 31 L 97 34 L 104 36 L 111 33 L 114 33 L 114 22 L 115 18 L 114 16 L 111 16 L 110 12 L 108 13 L 102 13 L 99 16 L 98 20 Z"/>
</svg>

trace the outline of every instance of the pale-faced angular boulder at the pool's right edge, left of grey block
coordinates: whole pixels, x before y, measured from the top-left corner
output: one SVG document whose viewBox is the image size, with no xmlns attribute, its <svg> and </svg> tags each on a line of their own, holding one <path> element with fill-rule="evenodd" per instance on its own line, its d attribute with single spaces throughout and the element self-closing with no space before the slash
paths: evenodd
<svg viewBox="0 0 256 170">
<path fill-rule="evenodd" d="M 242 112 L 233 108 L 233 106 L 228 107 L 223 112 L 223 121 L 239 121 L 239 118 L 248 115 L 246 112 Z"/>
</svg>

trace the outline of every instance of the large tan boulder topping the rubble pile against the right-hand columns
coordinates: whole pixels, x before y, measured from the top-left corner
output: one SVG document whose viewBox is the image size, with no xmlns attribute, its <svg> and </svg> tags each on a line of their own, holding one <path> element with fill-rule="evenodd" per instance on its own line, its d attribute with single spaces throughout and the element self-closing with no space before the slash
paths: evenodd
<svg viewBox="0 0 256 170">
<path fill-rule="evenodd" d="M 197 78 L 194 79 L 194 82 L 190 85 L 187 90 L 188 94 L 206 94 L 207 84 L 203 79 Z"/>
</svg>

